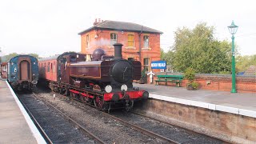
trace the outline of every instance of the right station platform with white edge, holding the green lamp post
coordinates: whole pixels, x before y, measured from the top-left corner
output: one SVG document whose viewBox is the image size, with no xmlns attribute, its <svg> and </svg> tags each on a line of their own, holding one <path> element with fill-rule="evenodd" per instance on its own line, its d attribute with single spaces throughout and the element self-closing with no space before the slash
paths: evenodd
<svg viewBox="0 0 256 144">
<path fill-rule="evenodd" d="M 134 86 L 141 90 L 147 90 L 150 93 L 150 98 L 256 118 L 256 93 L 186 90 L 186 87 L 138 83 L 134 83 Z"/>
</svg>

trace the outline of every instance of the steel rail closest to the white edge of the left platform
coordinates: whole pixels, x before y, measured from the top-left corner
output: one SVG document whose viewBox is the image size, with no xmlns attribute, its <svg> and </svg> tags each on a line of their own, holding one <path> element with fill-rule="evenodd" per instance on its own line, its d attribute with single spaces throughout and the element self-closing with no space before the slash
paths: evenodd
<svg viewBox="0 0 256 144">
<path fill-rule="evenodd" d="M 38 128 L 38 130 L 40 131 L 40 133 L 42 134 L 42 137 L 45 139 L 46 143 L 50 143 L 53 144 L 53 142 L 50 140 L 50 138 L 48 137 L 48 135 L 46 134 L 46 132 L 42 129 L 42 126 L 40 126 L 40 124 L 38 123 L 38 121 L 34 118 L 34 115 L 30 112 L 30 110 L 26 107 L 26 105 L 24 104 L 24 102 L 22 102 L 21 98 L 18 98 L 19 101 L 22 103 L 22 106 L 24 106 L 26 112 L 30 115 L 30 118 L 32 119 L 32 121 L 34 122 L 35 126 Z"/>
</svg>

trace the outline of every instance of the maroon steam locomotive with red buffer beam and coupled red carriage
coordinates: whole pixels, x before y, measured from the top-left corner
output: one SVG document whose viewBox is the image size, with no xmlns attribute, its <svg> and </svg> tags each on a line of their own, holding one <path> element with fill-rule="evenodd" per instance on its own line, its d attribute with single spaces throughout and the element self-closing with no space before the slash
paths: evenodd
<svg viewBox="0 0 256 144">
<path fill-rule="evenodd" d="M 114 44 L 114 56 L 102 49 L 94 50 L 92 61 L 85 54 L 64 53 L 39 59 L 39 78 L 51 90 L 70 98 L 90 103 L 98 110 L 125 108 L 147 99 L 149 93 L 134 88 L 133 81 L 141 78 L 141 62 L 122 58 L 122 44 Z"/>
</svg>

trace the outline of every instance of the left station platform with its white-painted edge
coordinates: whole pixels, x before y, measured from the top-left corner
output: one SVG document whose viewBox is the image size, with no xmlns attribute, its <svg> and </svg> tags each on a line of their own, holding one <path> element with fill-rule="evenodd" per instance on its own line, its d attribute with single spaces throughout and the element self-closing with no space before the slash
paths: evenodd
<svg viewBox="0 0 256 144">
<path fill-rule="evenodd" d="M 0 143 L 46 143 L 8 82 L 0 79 Z"/>
</svg>

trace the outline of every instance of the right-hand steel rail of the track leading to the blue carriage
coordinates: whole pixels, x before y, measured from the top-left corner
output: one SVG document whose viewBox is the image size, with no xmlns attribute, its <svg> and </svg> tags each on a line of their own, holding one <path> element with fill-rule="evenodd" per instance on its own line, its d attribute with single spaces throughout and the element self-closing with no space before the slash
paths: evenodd
<svg viewBox="0 0 256 144">
<path fill-rule="evenodd" d="M 34 93 L 33 93 L 34 94 Z M 36 94 L 34 94 L 34 97 L 37 97 Z M 37 97 L 38 98 L 38 97 Z M 81 126 L 78 122 L 74 121 L 73 118 L 70 118 L 70 116 L 62 113 L 61 110 L 58 110 L 58 108 L 52 104 L 50 104 L 50 102 L 46 102 L 46 100 L 43 100 L 42 98 L 40 98 L 43 102 L 45 102 L 47 105 L 51 106 L 52 108 L 54 108 L 54 110 L 57 110 L 58 113 L 62 114 L 69 122 L 72 122 L 74 124 L 74 126 L 76 126 L 78 128 L 78 130 L 80 130 L 83 134 L 88 135 L 90 138 L 94 139 L 94 141 L 96 143 L 100 143 L 100 144 L 105 144 L 105 142 L 103 142 L 100 138 L 98 138 L 96 135 L 92 134 L 90 132 L 90 130 L 87 130 L 84 126 Z"/>
</svg>

